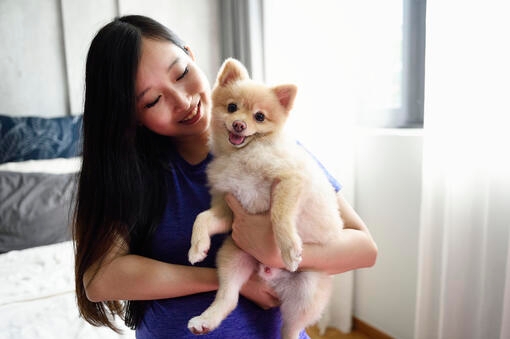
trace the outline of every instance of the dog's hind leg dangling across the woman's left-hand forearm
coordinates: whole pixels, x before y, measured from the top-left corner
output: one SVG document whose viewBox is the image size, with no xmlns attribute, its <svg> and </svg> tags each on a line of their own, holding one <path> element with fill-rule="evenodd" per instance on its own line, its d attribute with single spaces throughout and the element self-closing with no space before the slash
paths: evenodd
<svg viewBox="0 0 510 339">
<path fill-rule="evenodd" d="M 239 300 L 239 291 L 257 267 L 253 257 L 241 251 L 228 237 L 217 256 L 219 288 L 214 302 L 200 316 L 188 322 L 194 334 L 206 334 L 216 329 Z"/>
</svg>

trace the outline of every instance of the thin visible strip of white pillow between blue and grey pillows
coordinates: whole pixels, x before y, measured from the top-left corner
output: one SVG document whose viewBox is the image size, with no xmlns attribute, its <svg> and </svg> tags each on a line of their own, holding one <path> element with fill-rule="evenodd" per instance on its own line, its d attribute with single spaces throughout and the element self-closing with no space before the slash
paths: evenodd
<svg viewBox="0 0 510 339">
<path fill-rule="evenodd" d="M 0 165 L 0 171 L 23 173 L 76 173 L 81 168 L 81 157 L 27 160 L 8 162 Z"/>
</svg>

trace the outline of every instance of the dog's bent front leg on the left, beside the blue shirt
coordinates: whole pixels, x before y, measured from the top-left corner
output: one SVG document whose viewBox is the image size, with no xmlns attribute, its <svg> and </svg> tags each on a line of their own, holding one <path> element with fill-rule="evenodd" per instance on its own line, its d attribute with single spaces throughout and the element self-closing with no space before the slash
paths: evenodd
<svg viewBox="0 0 510 339">
<path fill-rule="evenodd" d="M 232 229 L 232 212 L 223 196 L 213 196 L 211 208 L 200 213 L 193 224 L 191 247 L 188 260 L 192 264 L 201 262 L 207 257 L 211 247 L 211 236 L 227 233 Z"/>
</svg>

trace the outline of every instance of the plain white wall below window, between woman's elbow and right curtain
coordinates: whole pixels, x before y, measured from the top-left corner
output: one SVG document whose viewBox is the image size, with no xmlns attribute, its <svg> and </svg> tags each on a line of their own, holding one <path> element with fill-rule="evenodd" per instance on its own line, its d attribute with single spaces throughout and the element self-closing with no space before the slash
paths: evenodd
<svg viewBox="0 0 510 339">
<path fill-rule="evenodd" d="M 354 315 L 399 339 L 412 338 L 421 199 L 420 130 L 360 131 L 355 207 L 379 248 L 355 273 Z"/>
</svg>

